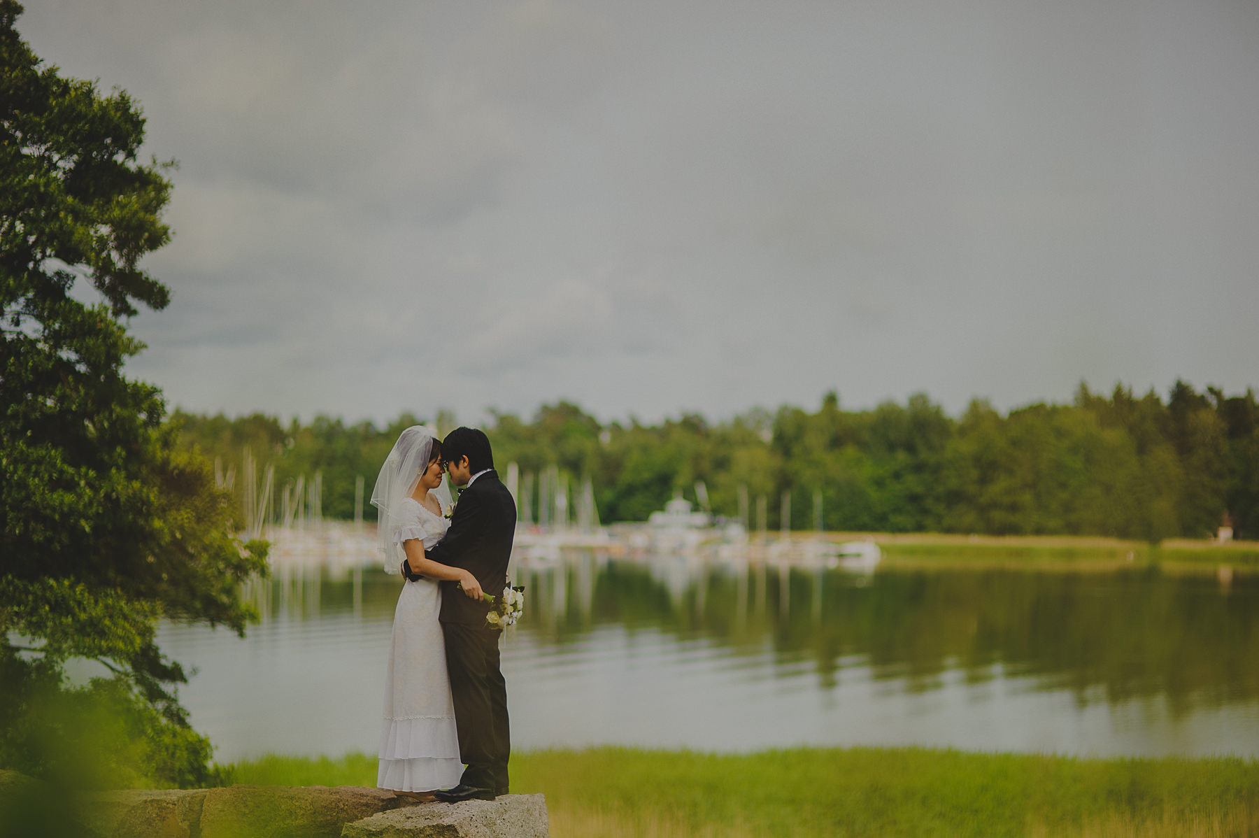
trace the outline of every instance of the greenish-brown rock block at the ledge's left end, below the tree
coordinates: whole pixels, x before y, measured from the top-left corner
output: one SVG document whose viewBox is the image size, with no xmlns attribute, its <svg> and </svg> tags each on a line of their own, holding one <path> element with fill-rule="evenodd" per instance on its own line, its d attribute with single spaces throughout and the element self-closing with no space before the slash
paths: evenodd
<svg viewBox="0 0 1259 838">
<path fill-rule="evenodd" d="M 79 818 L 106 838 L 196 838 L 205 789 L 128 789 L 86 795 Z"/>
</svg>

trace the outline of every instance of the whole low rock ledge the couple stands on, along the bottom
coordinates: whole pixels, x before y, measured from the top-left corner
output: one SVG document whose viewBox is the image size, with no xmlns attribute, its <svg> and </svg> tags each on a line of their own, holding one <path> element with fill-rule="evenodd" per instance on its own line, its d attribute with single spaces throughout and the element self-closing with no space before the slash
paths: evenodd
<svg viewBox="0 0 1259 838">
<path fill-rule="evenodd" d="M 0 771 L 0 804 L 43 784 Z M 31 795 L 34 796 L 34 795 Z M 0 810 L 9 807 L 0 805 Z M 546 799 L 409 803 L 381 789 L 233 785 L 225 789 L 102 791 L 73 819 L 91 838 L 546 838 Z M 78 830 L 76 830 L 78 832 Z"/>
</svg>

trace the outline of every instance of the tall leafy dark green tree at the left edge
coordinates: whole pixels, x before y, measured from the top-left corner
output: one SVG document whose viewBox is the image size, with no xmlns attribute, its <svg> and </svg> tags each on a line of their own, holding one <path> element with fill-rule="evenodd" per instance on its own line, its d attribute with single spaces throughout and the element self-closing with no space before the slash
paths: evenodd
<svg viewBox="0 0 1259 838">
<path fill-rule="evenodd" d="M 0 0 L 0 766 L 201 783 L 209 744 L 179 706 L 184 672 L 156 619 L 243 633 L 238 584 L 266 571 L 266 549 L 234 539 L 159 389 L 122 374 L 144 349 L 127 318 L 169 299 L 140 262 L 170 239 L 172 164 L 137 162 L 140 107 L 44 65 L 20 14 Z M 110 674 L 73 687 L 69 658 Z M 113 732 L 74 751 L 97 716 Z"/>
</svg>

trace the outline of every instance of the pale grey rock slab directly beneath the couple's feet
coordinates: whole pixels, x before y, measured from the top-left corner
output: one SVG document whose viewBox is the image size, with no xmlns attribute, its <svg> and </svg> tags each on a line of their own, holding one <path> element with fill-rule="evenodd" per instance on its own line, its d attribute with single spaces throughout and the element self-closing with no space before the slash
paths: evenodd
<svg viewBox="0 0 1259 838">
<path fill-rule="evenodd" d="M 548 838 L 546 798 L 426 803 L 347 823 L 341 838 Z"/>
</svg>

